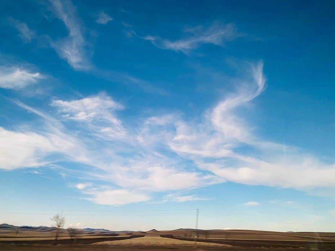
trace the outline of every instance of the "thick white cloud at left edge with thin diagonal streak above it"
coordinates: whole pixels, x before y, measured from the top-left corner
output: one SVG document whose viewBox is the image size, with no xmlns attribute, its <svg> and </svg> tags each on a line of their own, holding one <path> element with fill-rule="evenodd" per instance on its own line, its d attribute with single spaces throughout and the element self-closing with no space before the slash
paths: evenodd
<svg viewBox="0 0 335 251">
<path fill-rule="evenodd" d="M 39 133 L 31 131 L 35 129 L 34 126 L 31 126 L 30 131 L 26 128 L 23 132 L 9 131 L 0 127 L 1 169 L 45 166 L 62 160 L 60 155 L 64 157 L 63 160 L 82 163 L 88 161 L 87 150 L 83 143 L 68 132 L 62 132 L 66 130 L 59 121 L 23 103 L 15 103 L 43 118 L 45 125 L 39 127 Z"/>
</svg>

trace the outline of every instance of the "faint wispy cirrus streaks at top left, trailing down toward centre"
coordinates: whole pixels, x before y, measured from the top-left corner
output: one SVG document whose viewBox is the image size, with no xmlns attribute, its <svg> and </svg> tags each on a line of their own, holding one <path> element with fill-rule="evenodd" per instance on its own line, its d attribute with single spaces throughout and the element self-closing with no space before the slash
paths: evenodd
<svg viewBox="0 0 335 251">
<path fill-rule="evenodd" d="M 57 52 L 58 56 L 66 60 L 75 70 L 88 72 L 113 83 L 117 82 L 135 86 L 148 93 L 167 94 L 165 90 L 157 87 L 155 83 L 150 83 L 127 73 L 116 72 L 110 69 L 103 70 L 95 67 L 90 59 L 93 47 L 90 41 L 87 41 L 87 28 L 82 25 L 76 7 L 70 0 L 49 0 L 49 2 L 49 10 L 64 23 L 68 35 L 62 39 L 53 39 L 48 34 L 38 36 L 35 30 L 30 29 L 26 23 L 10 18 L 10 24 L 18 29 L 20 32 L 19 36 L 26 43 L 35 38 L 39 42 L 42 42 L 42 44 L 49 44 Z M 106 24 L 112 20 L 112 17 L 104 12 L 100 12 L 96 21 L 100 24 Z M 129 32 L 129 35 L 133 35 L 132 31 Z"/>
</svg>

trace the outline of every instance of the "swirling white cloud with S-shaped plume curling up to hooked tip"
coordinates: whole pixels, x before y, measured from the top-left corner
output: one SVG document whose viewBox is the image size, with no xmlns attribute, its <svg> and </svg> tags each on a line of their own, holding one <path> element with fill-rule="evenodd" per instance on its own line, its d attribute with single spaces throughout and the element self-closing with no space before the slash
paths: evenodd
<svg viewBox="0 0 335 251">
<path fill-rule="evenodd" d="M 239 157 L 233 149 L 241 144 L 255 145 L 255 139 L 251 135 L 250 126 L 238 115 L 237 108 L 257 97 L 265 88 L 263 63 L 252 66 L 251 72 L 252 76 L 244 80 L 249 82 L 247 88 L 227 96 L 212 109 L 205 111 L 200 123 L 187 123 L 176 115 L 153 117 L 147 119 L 146 127 L 142 130 L 145 135 L 141 137 L 157 138 L 156 134 L 151 134 L 158 125 L 158 131 L 164 134 L 165 143 L 183 157 L 197 162 L 201 162 L 198 159 L 201 157 Z M 165 126 L 163 130 L 162 125 Z M 161 137 L 158 139 L 162 140 Z"/>
</svg>

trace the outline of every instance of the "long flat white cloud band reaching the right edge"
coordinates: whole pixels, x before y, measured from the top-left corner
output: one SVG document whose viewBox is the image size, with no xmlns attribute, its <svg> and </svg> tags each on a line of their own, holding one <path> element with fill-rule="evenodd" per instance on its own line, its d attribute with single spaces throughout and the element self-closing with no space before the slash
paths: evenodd
<svg viewBox="0 0 335 251">
<path fill-rule="evenodd" d="M 237 156 L 240 159 L 240 156 Z M 332 165 L 317 163 L 297 156 L 294 162 L 277 160 L 266 162 L 254 158 L 239 161 L 238 166 L 203 164 L 203 168 L 227 180 L 248 184 L 294 187 L 300 190 L 310 187 L 334 187 L 335 170 Z"/>
</svg>

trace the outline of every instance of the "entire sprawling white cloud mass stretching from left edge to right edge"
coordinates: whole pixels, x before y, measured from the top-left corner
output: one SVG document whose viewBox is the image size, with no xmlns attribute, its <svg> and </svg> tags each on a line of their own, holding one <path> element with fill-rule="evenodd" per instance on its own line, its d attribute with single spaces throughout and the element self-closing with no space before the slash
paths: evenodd
<svg viewBox="0 0 335 251">
<path fill-rule="evenodd" d="M 242 116 L 241 110 L 264 92 L 266 78 L 262 62 L 245 64 L 243 69 L 245 76 L 241 74 L 234 81 L 236 91 L 190 120 L 174 111 L 138 118 L 136 126 L 127 124 L 117 112 L 124 105 L 104 93 L 52 101 L 56 108 L 53 115 L 61 114 L 59 120 L 17 103 L 38 115 L 46 124 L 45 131 L 2 129 L 3 137 L 7 137 L 4 142 L 12 144 L 0 145 L 1 164 L 5 169 L 42 166 L 47 160 L 55 160 L 49 156 L 59 153 L 89 167 L 80 171 L 83 180 L 92 182 L 90 187 L 80 186 L 88 199 L 113 205 L 147 201 L 158 192 L 171 194 L 225 181 L 300 190 L 334 187 L 334 165 L 290 146 L 285 147 L 284 159 L 281 144 L 266 141 L 251 129 L 251 121 Z M 78 122 L 75 136 L 69 133 L 67 121 Z M 115 130 L 118 126 L 124 131 Z M 17 152 L 22 154 L 17 157 Z M 113 187 L 99 187 L 100 182 Z M 169 194 L 165 197 L 168 201 L 203 199 Z"/>
</svg>

